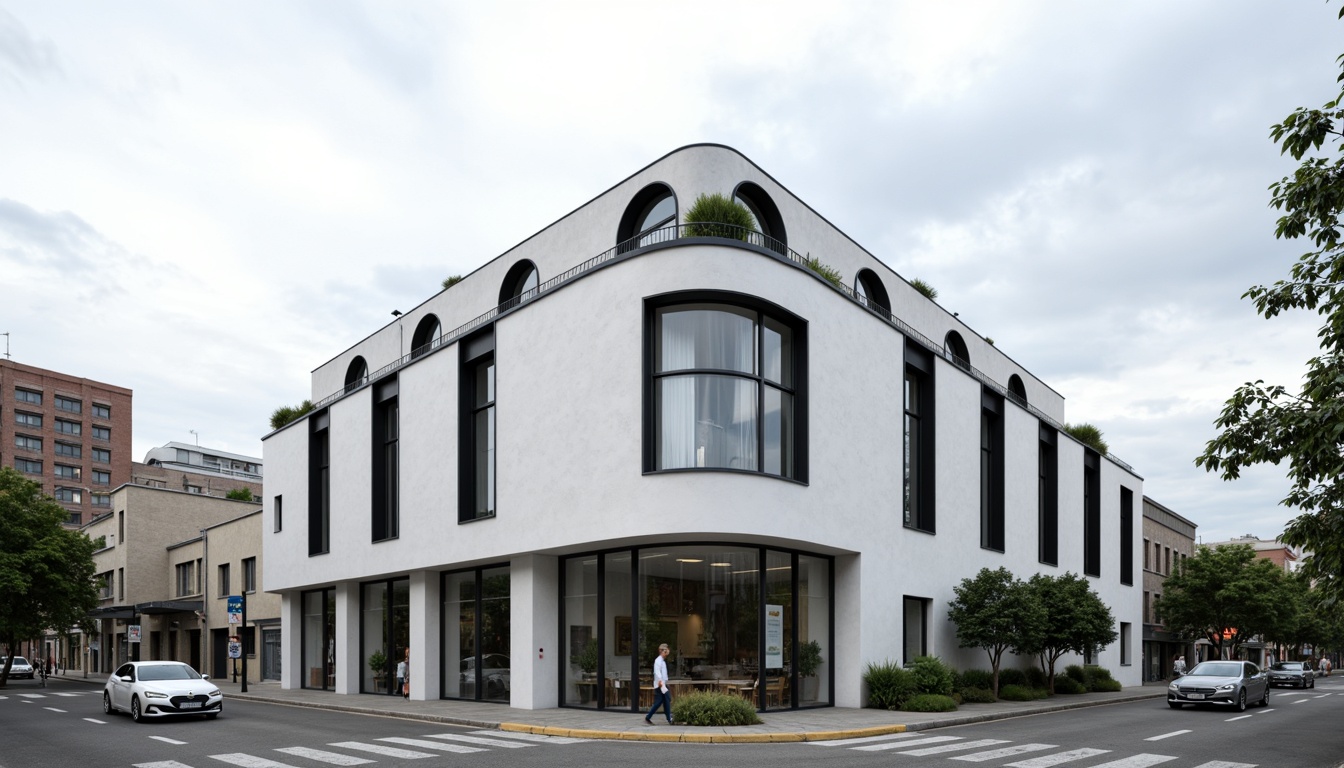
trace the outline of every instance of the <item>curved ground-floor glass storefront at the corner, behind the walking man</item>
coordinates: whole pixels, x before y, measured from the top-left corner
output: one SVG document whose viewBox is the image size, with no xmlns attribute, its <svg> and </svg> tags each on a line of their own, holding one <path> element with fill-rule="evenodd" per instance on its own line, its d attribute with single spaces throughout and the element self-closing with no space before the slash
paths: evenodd
<svg viewBox="0 0 1344 768">
<path fill-rule="evenodd" d="M 761 710 L 832 703 L 832 560 L 765 547 L 625 549 L 562 561 L 560 701 L 652 705 L 667 643 L 673 698 L 741 695 Z"/>
</svg>

